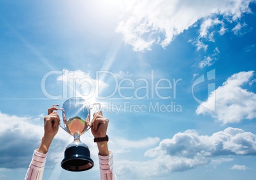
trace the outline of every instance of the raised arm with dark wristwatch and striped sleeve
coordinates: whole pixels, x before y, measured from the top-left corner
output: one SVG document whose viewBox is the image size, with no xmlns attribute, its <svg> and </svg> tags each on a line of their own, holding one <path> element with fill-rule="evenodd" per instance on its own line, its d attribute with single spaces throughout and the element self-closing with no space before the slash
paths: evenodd
<svg viewBox="0 0 256 180">
<path fill-rule="evenodd" d="M 106 137 L 109 120 L 103 117 L 101 111 L 94 113 L 90 123 L 92 135 L 94 138 Z M 101 170 L 101 180 L 117 179 L 113 168 L 113 153 L 108 150 L 108 141 L 96 142 L 99 150 L 99 169 Z"/>
</svg>

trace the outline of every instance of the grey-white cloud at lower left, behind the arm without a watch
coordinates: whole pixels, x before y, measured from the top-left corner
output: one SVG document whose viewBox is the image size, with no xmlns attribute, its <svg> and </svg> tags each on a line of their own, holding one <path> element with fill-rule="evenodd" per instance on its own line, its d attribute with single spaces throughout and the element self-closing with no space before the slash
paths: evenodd
<svg viewBox="0 0 256 180">
<path fill-rule="evenodd" d="M 39 122 L 38 120 L 41 120 Z M 32 153 L 39 147 L 43 137 L 43 117 L 18 117 L 0 112 L 0 168 L 16 169 L 27 168 L 32 158 Z M 57 136 L 50 146 L 51 153 L 47 158 L 46 168 L 55 165 L 58 159 L 64 157 L 65 146 L 72 142 L 66 132 L 59 128 Z M 11 137 L 11 139 L 10 139 Z"/>
</svg>

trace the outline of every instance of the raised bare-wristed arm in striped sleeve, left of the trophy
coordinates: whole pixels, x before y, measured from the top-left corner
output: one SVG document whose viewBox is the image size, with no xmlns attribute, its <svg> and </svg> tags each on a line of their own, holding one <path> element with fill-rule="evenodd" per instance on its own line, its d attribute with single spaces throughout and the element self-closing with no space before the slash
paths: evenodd
<svg viewBox="0 0 256 180">
<path fill-rule="evenodd" d="M 31 164 L 29 165 L 27 174 L 25 175 L 25 180 L 41 180 L 43 178 L 47 152 L 59 129 L 59 115 L 57 112 L 53 112 L 53 110 L 58 110 L 58 108 L 52 106 L 48 109 L 48 115 L 44 117 L 45 133 L 39 148 L 34 150 Z"/>
</svg>

